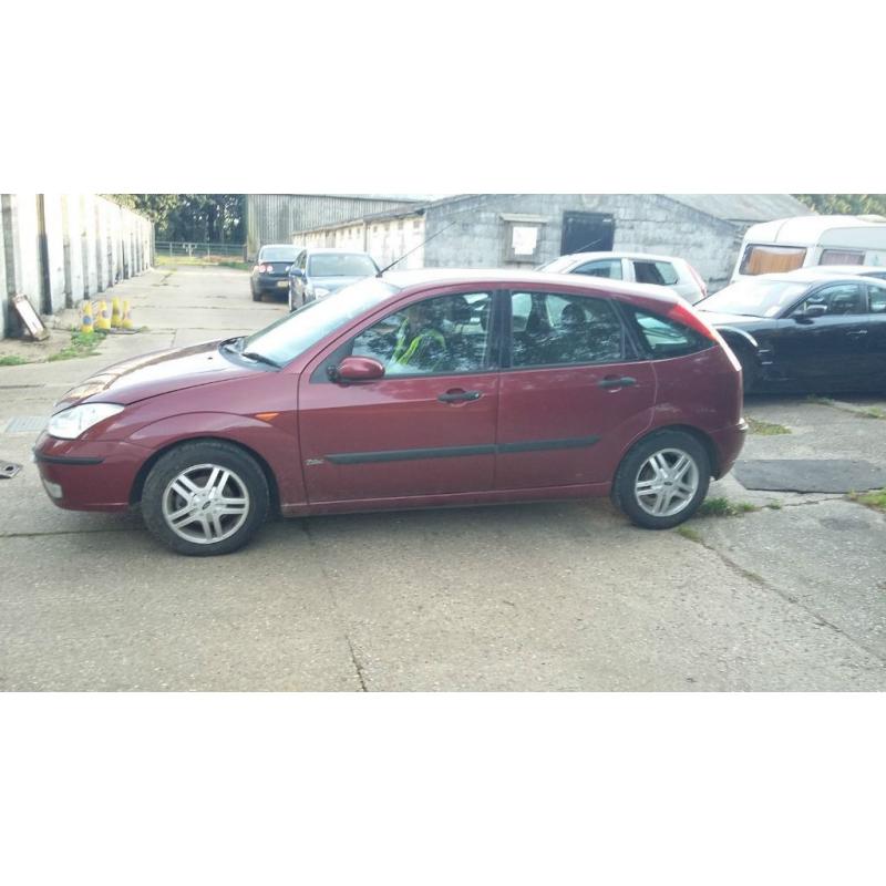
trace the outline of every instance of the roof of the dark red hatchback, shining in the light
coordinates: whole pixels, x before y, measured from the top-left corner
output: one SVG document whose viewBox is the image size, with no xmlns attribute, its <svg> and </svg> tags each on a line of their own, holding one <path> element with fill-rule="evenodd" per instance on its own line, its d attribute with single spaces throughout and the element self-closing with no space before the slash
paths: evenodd
<svg viewBox="0 0 886 886">
<path fill-rule="evenodd" d="M 434 285 L 459 284 L 509 284 L 515 287 L 556 286 L 571 289 L 587 289 L 589 292 L 609 291 L 626 296 L 653 296 L 674 301 L 676 296 L 666 286 L 655 284 L 632 284 L 610 280 L 604 277 L 583 277 L 581 275 L 549 274 L 538 270 L 508 270 L 507 268 L 423 268 L 421 270 L 387 271 L 383 280 L 400 290 Z"/>
</svg>

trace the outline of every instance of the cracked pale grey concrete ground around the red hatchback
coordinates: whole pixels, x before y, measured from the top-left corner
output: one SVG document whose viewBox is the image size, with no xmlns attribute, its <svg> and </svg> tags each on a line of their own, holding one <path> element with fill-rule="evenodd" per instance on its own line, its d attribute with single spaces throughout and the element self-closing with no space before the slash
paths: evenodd
<svg viewBox="0 0 886 886">
<path fill-rule="evenodd" d="M 0 368 L 0 430 L 134 353 L 238 334 L 285 312 L 248 276 L 151 271 L 121 284 L 136 326 L 97 357 Z M 886 457 L 886 421 L 756 399 L 791 433 L 746 457 Z M 879 403 L 879 406 L 886 406 Z M 0 433 L 0 689 L 882 690 L 886 519 L 844 496 L 749 493 L 681 533 L 608 502 L 269 524 L 209 559 L 158 546 L 137 515 L 56 509 Z M 765 507 L 777 505 L 779 509 Z"/>
</svg>

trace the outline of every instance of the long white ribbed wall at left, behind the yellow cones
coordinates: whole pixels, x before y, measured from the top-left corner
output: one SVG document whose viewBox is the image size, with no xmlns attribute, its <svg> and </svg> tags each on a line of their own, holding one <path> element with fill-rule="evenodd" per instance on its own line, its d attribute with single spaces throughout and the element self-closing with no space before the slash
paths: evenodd
<svg viewBox="0 0 886 886">
<path fill-rule="evenodd" d="M 21 334 L 16 295 L 52 315 L 153 262 L 153 223 L 94 194 L 0 194 L 0 338 Z"/>
</svg>

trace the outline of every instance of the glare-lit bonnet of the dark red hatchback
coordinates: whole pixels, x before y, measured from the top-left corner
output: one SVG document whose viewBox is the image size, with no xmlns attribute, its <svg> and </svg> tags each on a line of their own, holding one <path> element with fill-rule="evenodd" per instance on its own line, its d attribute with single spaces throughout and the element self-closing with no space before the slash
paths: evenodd
<svg viewBox="0 0 886 886">
<path fill-rule="evenodd" d="M 148 396 L 228 381 L 256 372 L 237 365 L 218 351 L 218 341 L 188 348 L 154 351 L 102 370 L 72 388 L 55 404 L 54 411 L 84 400 L 127 405 Z"/>
</svg>

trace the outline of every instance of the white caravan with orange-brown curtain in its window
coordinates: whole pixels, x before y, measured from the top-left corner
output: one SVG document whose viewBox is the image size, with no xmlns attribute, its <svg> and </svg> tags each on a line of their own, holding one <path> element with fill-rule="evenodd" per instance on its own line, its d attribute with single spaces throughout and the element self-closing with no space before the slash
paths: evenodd
<svg viewBox="0 0 886 886">
<path fill-rule="evenodd" d="M 886 218 L 807 215 L 752 225 L 731 282 L 816 265 L 886 266 Z"/>
</svg>

